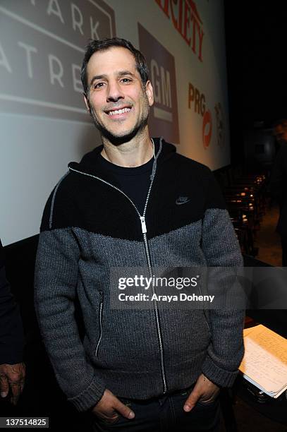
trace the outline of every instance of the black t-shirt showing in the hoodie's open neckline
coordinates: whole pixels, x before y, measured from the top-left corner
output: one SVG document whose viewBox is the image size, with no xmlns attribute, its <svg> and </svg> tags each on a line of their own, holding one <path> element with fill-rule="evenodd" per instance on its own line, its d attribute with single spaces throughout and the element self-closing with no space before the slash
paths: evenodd
<svg viewBox="0 0 287 432">
<path fill-rule="evenodd" d="M 140 215 L 142 215 L 145 208 L 145 200 L 147 199 L 147 192 L 149 190 L 154 157 L 146 164 L 132 168 L 119 167 L 116 164 L 112 164 L 104 159 L 102 155 L 100 156 L 100 163 L 104 169 L 108 169 L 113 174 L 121 190 L 133 201 Z"/>
</svg>

